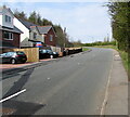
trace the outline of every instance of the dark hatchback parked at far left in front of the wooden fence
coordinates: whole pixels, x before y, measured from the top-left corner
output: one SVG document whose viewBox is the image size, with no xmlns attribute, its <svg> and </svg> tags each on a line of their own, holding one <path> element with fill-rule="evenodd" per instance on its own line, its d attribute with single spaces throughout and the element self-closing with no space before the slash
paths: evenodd
<svg viewBox="0 0 130 117">
<path fill-rule="evenodd" d="M 0 54 L 0 61 L 2 63 L 11 63 L 11 64 L 25 63 L 27 61 L 27 56 L 22 51 L 6 52 Z"/>
</svg>

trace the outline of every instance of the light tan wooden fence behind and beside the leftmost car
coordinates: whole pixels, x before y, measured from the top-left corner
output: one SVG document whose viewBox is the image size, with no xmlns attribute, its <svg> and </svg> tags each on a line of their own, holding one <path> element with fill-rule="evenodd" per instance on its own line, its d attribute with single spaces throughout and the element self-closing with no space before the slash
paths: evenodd
<svg viewBox="0 0 130 117">
<path fill-rule="evenodd" d="M 39 48 L 5 49 L 3 52 L 23 51 L 27 55 L 27 62 L 39 62 Z"/>
</svg>

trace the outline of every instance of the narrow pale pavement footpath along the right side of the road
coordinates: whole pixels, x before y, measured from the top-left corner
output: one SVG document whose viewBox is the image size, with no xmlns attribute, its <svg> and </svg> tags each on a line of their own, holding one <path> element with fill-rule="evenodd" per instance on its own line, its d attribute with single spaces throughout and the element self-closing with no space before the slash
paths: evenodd
<svg viewBox="0 0 130 117">
<path fill-rule="evenodd" d="M 104 115 L 128 115 L 128 75 L 122 66 L 119 53 L 114 50 Z"/>
</svg>

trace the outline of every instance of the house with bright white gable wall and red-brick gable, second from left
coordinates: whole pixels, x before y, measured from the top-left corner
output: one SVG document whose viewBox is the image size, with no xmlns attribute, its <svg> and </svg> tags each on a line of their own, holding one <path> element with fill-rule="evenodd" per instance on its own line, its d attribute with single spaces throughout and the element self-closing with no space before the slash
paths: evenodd
<svg viewBox="0 0 130 117">
<path fill-rule="evenodd" d="M 14 25 L 23 31 L 21 35 L 21 47 L 34 47 L 37 42 L 56 46 L 56 35 L 52 26 L 38 26 L 16 17 L 14 17 Z"/>
</svg>

